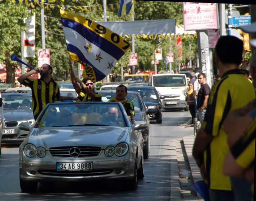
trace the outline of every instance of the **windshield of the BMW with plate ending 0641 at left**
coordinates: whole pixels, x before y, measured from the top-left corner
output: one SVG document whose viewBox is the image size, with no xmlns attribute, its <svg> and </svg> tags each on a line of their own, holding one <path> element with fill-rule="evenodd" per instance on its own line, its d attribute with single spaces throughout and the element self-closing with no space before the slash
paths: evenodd
<svg viewBox="0 0 256 201">
<path fill-rule="evenodd" d="M 31 109 L 32 95 L 2 94 L 4 109 Z"/>
</svg>

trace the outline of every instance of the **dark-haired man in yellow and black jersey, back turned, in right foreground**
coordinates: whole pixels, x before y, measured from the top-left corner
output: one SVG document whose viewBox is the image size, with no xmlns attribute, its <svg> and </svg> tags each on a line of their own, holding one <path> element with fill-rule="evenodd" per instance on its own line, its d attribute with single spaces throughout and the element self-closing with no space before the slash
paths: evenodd
<svg viewBox="0 0 256 201">
<path fill-rule="evenodd" d="M 210 92 L 205 119 L 196 135 L 192 154 L 202 178 L 207 179 L 210 200 L 233 201 L 233 193 L 246 194 L 241 186 L 238 188 L 247 184 L 245 179 L 230 181 L 230 177 L 222 172 L 229 150 L 223 121 L 230 111 L 245 106 L 255 98 L 255 93 L 244 71 L 238 69 L 243 60 L 243 42 L 234 36 L 223 36 L 219 38 L 215 50 L 221 79 Z"/>
</svg>

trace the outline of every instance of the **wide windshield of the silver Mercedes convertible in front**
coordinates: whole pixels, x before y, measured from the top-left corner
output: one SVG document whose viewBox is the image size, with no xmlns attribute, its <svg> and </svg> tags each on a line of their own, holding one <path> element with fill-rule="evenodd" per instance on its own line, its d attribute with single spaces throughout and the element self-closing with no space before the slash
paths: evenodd
<svg viewBox="0 0 256 201">
<path fill-rule="evenodd" d="M 118 104 L 76 103 L 50 104 L 36 127 L 126 126 Z"/>
</svg>

